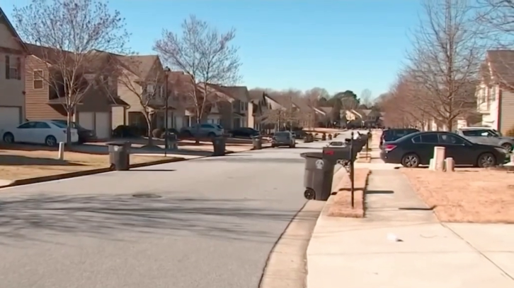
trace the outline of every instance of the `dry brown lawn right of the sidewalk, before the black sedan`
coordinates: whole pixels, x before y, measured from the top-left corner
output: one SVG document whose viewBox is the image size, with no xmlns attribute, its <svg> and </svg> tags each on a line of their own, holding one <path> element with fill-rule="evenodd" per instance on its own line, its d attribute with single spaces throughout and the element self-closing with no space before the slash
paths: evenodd
<svg viewBox="0 0 514 288">
<path fill-rule="evenodd" d="M 401 169 L 442 222 L 514 223 L 514 174 L 491 169 Z"/>
</svg>

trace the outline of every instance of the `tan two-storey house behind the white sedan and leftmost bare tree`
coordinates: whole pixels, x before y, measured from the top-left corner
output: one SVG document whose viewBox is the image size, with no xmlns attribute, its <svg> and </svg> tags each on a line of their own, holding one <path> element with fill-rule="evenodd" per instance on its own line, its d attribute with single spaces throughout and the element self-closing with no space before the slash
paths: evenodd
<svg viewBox="0 0 514 288">
<path fill-rule="evenodd" d="M 25 117 L 28 120 L 67 119 L 65 109 L 66 97 L 64 95 L 64 80 L 59 69 L 52 70 L 52 64 L 59 61 L 56 52 L 51 48 L 27 44 L 29 56 L 25 61 Z M 59 54 L 72 54 L 72 52 L 58 52 Z M 85 68 L 81 76 L 85 86 L 88 86 L 86 94 L 77 101 L 72 120 L 84 128 L 96 132 L 101 139 L 110 138 L 112 133 L 112 109 L 124 107 L 127 103 L 120 100 L 112 84 L 108 67 L 112 65 L 110 54 L 91 51 L 90 66 Z M 103 72 L 103 73 L 101 73 Z M 99 75 L 102 74 L 102 75 Z M 60 79 L 60 80 L 59 80 Z M 101 80 L 100 80 L 101 79 Z M 91 81 L 97 83 L 92 84 Z"/>
</svg>

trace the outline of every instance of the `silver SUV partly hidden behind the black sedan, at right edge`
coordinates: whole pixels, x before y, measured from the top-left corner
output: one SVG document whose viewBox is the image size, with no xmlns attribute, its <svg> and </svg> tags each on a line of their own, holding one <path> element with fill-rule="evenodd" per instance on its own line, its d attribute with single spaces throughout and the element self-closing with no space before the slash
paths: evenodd
<svg viewBox="0 0 514 288">
<path fill-rule="evenodd" d="M 474 143 L 501 146 L 508 151 L 514 147 L 514 137 L 501 136 L 500 132 L 487 127 L 460 128 L 457 134 Z"/>
</svg>

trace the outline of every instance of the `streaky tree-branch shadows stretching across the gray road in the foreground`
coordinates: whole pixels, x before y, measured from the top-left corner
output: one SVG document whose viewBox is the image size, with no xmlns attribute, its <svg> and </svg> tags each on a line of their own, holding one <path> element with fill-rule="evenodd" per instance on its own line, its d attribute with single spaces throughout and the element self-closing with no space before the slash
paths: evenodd
<svg viewBox="0 0 514 288">
<path fill-rule="evenodd" d="M 159 196 L 40 195 L 0 200 L 0 245 L 39 241 L 49 233 L 122 241 L 130 241 L 123 238 L 123 232 L 275 241 L 268 225 L 289 222 L 296 212 L 276 205 L 268 208 L 251 199 Z"/>
</svg>

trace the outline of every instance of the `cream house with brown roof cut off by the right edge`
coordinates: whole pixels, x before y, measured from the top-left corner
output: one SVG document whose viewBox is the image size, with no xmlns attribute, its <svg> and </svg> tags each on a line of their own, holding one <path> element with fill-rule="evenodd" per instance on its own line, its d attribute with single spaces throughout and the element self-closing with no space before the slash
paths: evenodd
<svg viewBox="0 0 514 288">
<path fill-rule="evenodd" d="M 514 128 L 514 50 L 487 51 L 480 72 L 475 95 L 481 126 L 506 133 Z"/>
</svg>

